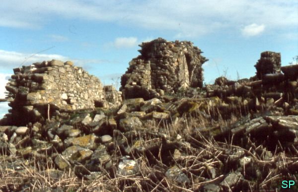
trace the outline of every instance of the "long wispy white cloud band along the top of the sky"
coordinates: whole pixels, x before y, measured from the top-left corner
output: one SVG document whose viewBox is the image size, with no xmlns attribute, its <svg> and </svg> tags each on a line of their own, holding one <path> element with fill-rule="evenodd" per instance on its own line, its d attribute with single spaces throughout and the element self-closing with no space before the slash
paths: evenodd
<svg viewBox="0 0 298 192">
<path fill-rule="evenodd" d="M 114 22 L 122 25 L 176 33 L 177 37 L 201 36 L 221 29 L 264 23 L 266 29 L 298 25 L 297 0 L 18 0 L 1 2 L 0 26 L 36 27 L 59 16 Z M 65 9 L 65 7 L 68 7 Z M 41 11 L 42 10 L 42 11 Z M 259 26 L 260 27 L 260 26 Z M 262 29 L 262 28 L 261 28 Z M 261 31 L 259 29 L 259 31 Z M 247 29 L 249 31 L 249 29 Z"/>
</svg>

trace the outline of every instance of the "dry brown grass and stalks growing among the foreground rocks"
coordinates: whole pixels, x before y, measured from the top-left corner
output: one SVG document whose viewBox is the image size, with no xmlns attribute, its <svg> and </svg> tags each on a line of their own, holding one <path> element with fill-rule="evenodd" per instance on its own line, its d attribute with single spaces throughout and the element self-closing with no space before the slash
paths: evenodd
<svg viewBox="0 0 298 192">
<path fill-rule="evenodd" d="M 0 190 L 36 191 L 61 188 L 69 192 L 199 191 L 209 184 L 218 185 L 227 174 L 236 171 L 238 167 L 234 164 L 243 156 L 252 158 L 252 166 L 244 166 L 242 171 L 244 178 L 239 181 L 239 185 L 229 189 L 231 191 L 279 189 L 282 179 L 297 181 L 298 153 L 290 157 L 285 152 L 276 150 L 271 159 L 264 160 L 262 154 L 257 152 L 263 149 L 262 146 L 256 146 L 251 140 L 248 141 L 247 146 L 234 145 L 232 137 L 227 139 L 228 141 L 220 142 L 213 137 L 207 137 L 197 129 L 228 126 L 236 121 L 238 117 L 235 116 L 230 120 L 220 118 L 218 121 L 210 121 L 200 114 L 196 117 L 184 115 L 177 121 L 149 121 L 146 129 L 135 129 L 131 133 L 118 131 L 118 136 L 125 138 L 125 145 L 132 146 L 134 141 L 140 140 L 141 146 L 146 147 L 147 142 L 156 138 L 163 141 L 151 150 L 134 151 L 131 154 L 132 159 L 139 166 L 139 172 L 130 176 L 118 175 L 118 161 L 113 160 L 112 171 L 107 172 L 102 168 L 102 174 L 94 180 L 78 177 L 75 174 L 75 167 L 61 172 L 61 176 L 55 178 L 46 171 L 55 169 L 54 163 L 48 161 L 50 157 L 40 159 L 35 156 L 23 158 L 2 155 Z M 178 134 L 181 137 L 177 137 Z M 114 151 L 110 155 L 112 159 L 117 159 L 123 154 L 121 144 L 116 142 L 116 136 L 114 136 L 114 145 Z M 281 147 L 277 146 L 277 148 Z M 174 149 L 178 149 L 183 155 L 174 158 L 171 152 Z M 237 150 L 243 151 L 243 155 L 234 157 L 232 152 Z M 14 169 L 15 166 L 9 168 L 16 160 L 21 162 L 19 168 L 17 170 Z M 176 183 L 165 177 L 165 172 L 173 165 L 187 175 L 191 181 L 189 184 Z M 256 169 L 261 175 L 252 178 L 251 169 Z"/>
</svg>

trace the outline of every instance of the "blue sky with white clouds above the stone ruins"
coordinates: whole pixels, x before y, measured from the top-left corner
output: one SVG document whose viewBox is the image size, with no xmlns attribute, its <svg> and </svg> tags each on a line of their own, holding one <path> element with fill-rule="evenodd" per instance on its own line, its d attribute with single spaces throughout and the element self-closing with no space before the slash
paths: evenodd
<svg viewBox="0 0 298 192">
<path fill-rule="evenodd" d="M 0 98 L 12 68 L 44 60 L 71 60 L 115 83 L 138 45 L 157 37 L 199 47 L 206 83 L 224 71 L 250 77 L 263 51 L 280 52 L 282 65 L 298 55 L 298 1 L 1 0 Z M 0 104 L 0 117 L 6 111 Z"/>
</svg>

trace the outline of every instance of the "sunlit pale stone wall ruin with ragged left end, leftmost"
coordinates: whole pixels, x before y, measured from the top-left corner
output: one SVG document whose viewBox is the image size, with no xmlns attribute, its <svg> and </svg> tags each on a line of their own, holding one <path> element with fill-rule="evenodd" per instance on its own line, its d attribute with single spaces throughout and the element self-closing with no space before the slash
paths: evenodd
<svg viewBox="0 0 298 192">
<path fill-rule="evenodd" d="M 115 88 L 103 87 L 98 78 L 70 61 L 44 61 L 14 68 L 13 72 L 5 86 L 12 109 L 4 119 L 11 125 L 47 119 L 56 110 L 107 107 L 108 102 L 121 102 Z"/>
</svg>

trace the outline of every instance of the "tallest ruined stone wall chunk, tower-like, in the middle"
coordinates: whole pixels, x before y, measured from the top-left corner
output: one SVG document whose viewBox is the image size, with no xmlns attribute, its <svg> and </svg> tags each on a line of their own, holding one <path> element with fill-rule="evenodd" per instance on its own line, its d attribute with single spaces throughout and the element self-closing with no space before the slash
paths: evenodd
<svg viewBox="0 0 298 192">
<path fill-rule="evenodd" d="M 124 98 L 149 99 L 187 87 L 203 86 L 202 64 L 208 61 L 189 41 L 169 42 L 162 38 L 142 43 L 121 77 Z"/>
</svg>

